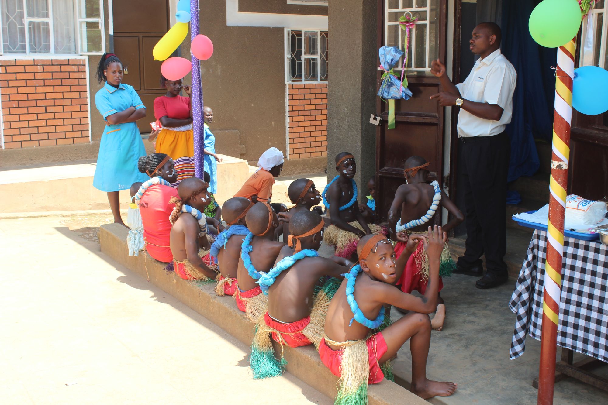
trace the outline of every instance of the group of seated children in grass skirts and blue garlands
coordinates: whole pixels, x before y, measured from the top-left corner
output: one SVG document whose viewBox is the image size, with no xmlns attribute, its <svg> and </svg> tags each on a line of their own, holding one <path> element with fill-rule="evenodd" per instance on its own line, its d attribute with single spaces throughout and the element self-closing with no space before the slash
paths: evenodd
<svg viewBox="0 0 608 405">
<path fill-rule="evenodd" d="M 213 210 L 215 218 L 206 216 L 204 212 L 212 201 L 207 192 L 209 184 L 196 178 L 181 182 L 179 199 L 159 203 L 167 204 L 167 209 L 174 204 L 170 209 L 173 226 L 168 247 L 176 273 L 184 279 L 217 280 L 216 293 L 233 295 L 238 308 L 255 322 L 250 358 L 254 378 L 280 375 L 285 369 L 286 362 L 275 357 L 271 339 L 291 347 L 314 344 L 323 364 L 341 376 L 336 403 L 365 403 L 367 383 L 391 378 L 390 359 L 411 338 L 412 391 L 423 398 L 455 391 L 454 383 L 426 378 L 431 328 L 426 314 L 437 310 L 436 317 L 440 316 L 437 305 L 441 300 L 438 291 L 440 258 L 447 241 L 445 231 L 459 223 L 461 213 L 443 192 L 437 191 L 436 184 L 426 184 L 428 164 L 420 163 L 418 157 L 412 159 L 406 163 L 407 187 L 399 187 L 389 212 L 398 254 L 385 235 L 378 235 L 387 230 L 365 221 L 364 216 L 370 222 L 375 218 L 374 179 L 368 182 L 371 204 L 360 209 L 353 180 L 356 162 L 350 153 L 336 156 L 339 175 L 323 191 L 331 220 L 325 241 L 336 246 L 336 257 L 323 258 L 317 253 L 325 223 L 311 211 L 320 198 L 309 179 L 297 179 L 289 186 L 289 198 L 295 206 L 282 214 L 281 220 L 269 205 L 272 192 L 266 189 L 247 191 L 247 197 L 230 198 L 223 209 Z M 278 176 L 283 162 L 278 155 L 274 160 L 271 170 L 261 168 L 257 173 Z M 156 173 L 161 176 L 156 178 L 162 178 L 163 173 L 171 173 L 170 167 L 164 167 L 167 161 L 162 163 L 162 167 L 147 170 L 148 175 Z M 276 175 L 272 173 L 275 169 Z M 247 187 L 258 183 L 254 180 L 250 179 Z M 271 181 L 274 183 L 274 178 Z M 164 184 L 154 178 L 151 182 L 148 188 L 139 187 L 136 200 L 140 209 L 146 190 Z M 260 195 L 265 201 L 256 198 Z M 454 219 L 443 230 L 423 226 L 434 218 L 440 198 L 446 209 L 454 213 Z M 427 209 L 429 206 L 431 209 Z M 396 221 L 399 208 L 401 220 Z M 416 220 L 423 208 L 426 213 Z M 222 216 L 226 229 L 219 223 Z M 288 227 L 288 232 L 281 232 L 288 244 L 278 241 L 275 232 L 281 222 Z M 219 230 L 212 243 L 207 240 L 208 224 Z M 427 232 L 408 235 L 409 229 Z M 378 234 L 373 235 L 372 231 Z M 208 249 L 207 260 L 201 259 Z M 415 285 L 412 280 L 417 280 Z M 401 291 L 395 285 L 400 285 Z M 423 297 L 409 294 L 413 289 Z M 410 312 L 391 325 L 390 305 Z M 368 371 L 362 374 L 361 367 Z"/>
</svg>

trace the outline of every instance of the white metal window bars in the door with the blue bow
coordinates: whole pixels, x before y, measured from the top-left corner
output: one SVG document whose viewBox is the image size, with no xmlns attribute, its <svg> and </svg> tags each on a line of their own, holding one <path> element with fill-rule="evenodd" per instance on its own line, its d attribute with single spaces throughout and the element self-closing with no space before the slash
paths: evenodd
<svg viewBox="0 0 608 405">
<path fill-rule="evenodd" d="M 406 13 L 406 12 L 410 12 L 413 15 L 415 15 L 418 12 L 426 12 L 426 21 L 416 21 L 416 25 L 425 25 L 426 26 L 426 52 L 424 54 L 424 57 L 426 58 L 426 61 L 424 63 L 424 65 L 426 67 L 414 67 L 416 66 L 416 29 L 412 29 L 410 30 L 410 44 L 409 44 L 409 49 L 412 52 L 412 57 L 410 58 L 410 60 L 408 60 L 408 64 L 411 65 L 411 67 L 407 67 L 408 71 L 418 71 L 418 72 L 426 72 L 426 71 L 430 71 L 430 66 L 429 66 L 429 40 L 430 40 L 430 2 L 431 0 L 426 0 L 426 7 L 416 7 L 416 3 L 420 1 L 420 0 L 412 0 L 412 5 L 413 7 L 399 7 L 399 9 L 389 9 L 389 2 L 386 1 L 386 5 L 384 7 L 384 46 L 389 46 L 389 26 L 399 26 L 399 22 L 398 21 L 389 21 L 389 13 Z M 399 5 L 402 5 L 402 0 L 399 0 Z M 401 50 L 405 50 L 403 49 L 403 41 L 405 40 L 405 31 L 402 30 L 399 27 L 399 35 L 398 35 L 398 40 L 397 40 L 397 46 L 399 47 L 399 49 Z M 393 70 L 395 71 L 402 71 L 403 68 L 401 67 L 402 62 L 399 63 L 399 66 L 395 66 Z"/>
</svg>

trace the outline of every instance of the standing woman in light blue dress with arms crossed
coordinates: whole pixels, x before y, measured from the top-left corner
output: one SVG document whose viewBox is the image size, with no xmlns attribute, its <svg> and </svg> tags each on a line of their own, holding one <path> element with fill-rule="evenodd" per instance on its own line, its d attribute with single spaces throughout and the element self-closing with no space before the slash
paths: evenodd
<svg viewBox="0 0 608 405">
<path fill-rule="evenodd" d="M 97 80 L 105 81 L 95 94 L 95 106 L 106 123 L 93 178 L 95 189 L 108 193 L 114 223 L 123 224 L 119 191 L 134 182 L 148 180 L 137 170 L 137 159 L 146 154 L 136 121 L 146 116 L 146 108 L 133 86 L 122 83 L 123 68 L 114 54 L 103 54 L 97 66 Z"/>
</svg>

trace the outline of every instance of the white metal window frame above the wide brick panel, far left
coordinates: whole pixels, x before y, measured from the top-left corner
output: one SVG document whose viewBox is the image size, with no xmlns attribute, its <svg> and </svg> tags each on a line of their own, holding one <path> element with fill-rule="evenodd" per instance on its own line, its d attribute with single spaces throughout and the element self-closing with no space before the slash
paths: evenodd
<svg viewBox="0 0 608 405">
<path fill-rule="evenodd" d="M 74 2 L 74 35 L 76 42 L 76 54 L 55 54 L 55 35 L 54 35 L 54 23 L 53 23 L 53 2 L 55 0 L 49 0 L 49 17 L 48 18 L 32 18 L 27 16 L 27 0 L 21 0 L 23 2 L 23 20 L 25 25 L 25 41 L 26 41 L 26 52 L 24 54 L 15 54 L 15 53 L 4 53 L 4 41 L 2 38 L 2 18 L 0 18 L 0 55 L 55 55 L 55 56 L 72 56 L 74 55 L 103 55 L 106 52 L 106 32 L 105 32 L 105 22 L 103 15 L 103 0 L 99 1 L 99 18 L 80 18 L 80 7 L 81 2 L 86 0 L 73 0 Z M 49 23 L 49 35 L 50 35 L 50 52 L 30 52 L 30 41 L 29 41 L 29 30 L 27 24 L 32 21 L 43 21 Z M 95 22 L 98 21 L 99 29 L 102 33 L 102 50 L 100 52 L 83 52 L 81 49 L 81 32 L 80 32 L 80 23 L 81 22 Z"/>
</svg>

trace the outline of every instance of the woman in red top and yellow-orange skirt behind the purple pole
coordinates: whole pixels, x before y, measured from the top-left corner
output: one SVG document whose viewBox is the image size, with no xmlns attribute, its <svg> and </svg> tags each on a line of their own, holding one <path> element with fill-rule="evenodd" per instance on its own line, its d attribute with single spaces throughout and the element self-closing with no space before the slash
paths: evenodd
<svg viewBox="0 0 608 405">
<path fill-rule="evenodd" d="M 177 181 L 171 187 L 177 188 L 179 182 L 194 176 L 194 135 L 192 132 L 192 88 L 182 85 L 182 80 L 167 80 L 161 75 L 161 86 L 167 94 L 154 100 L 154 117 L 161 124 L 161 132 L 156 140 L 156 153 L 168 154 L 178 172 Z M 184 89 L 188 97 L 182 97 Z"/>
</svg>

